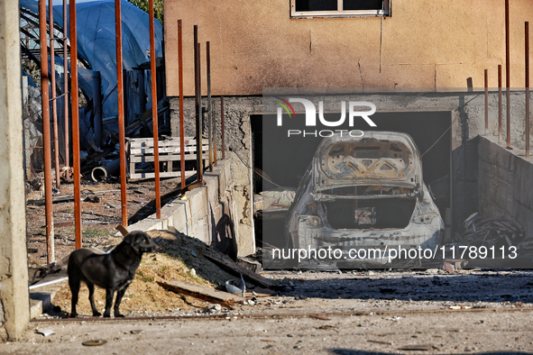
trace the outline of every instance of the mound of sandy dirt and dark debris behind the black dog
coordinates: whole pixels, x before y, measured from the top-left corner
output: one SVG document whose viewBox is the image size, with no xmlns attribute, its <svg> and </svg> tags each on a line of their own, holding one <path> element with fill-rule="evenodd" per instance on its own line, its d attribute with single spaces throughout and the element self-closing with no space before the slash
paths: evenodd
<svg viewBox="0 0 533 355">
<path fill-rule="evenodd" d="M 121 307 L 125 312 L 182 313 L 195 308 L 204 309 L 212 303 L 232 309 L 234 303 L 245 300 L 242 296 L 225 292 L 225 282 L 234 278 L 225 269 L 239 269 L 228 256 L 205 242 L 191 238 L 171 227 L 167 231 L 147 233 L 154 243 L 161 247 L 161 251 L 145 254 L 142 258 L 135 278 L 124 294 Z M 110 238 L 106 245 L 101 247 L 103 250 L 110 250 L 120 241 L 121 237 Z M 220 264 L 225 265 L 225 269 L 219 267 Z M 271 293 L 270 290 L 259 286 L 277 285 L 273 280 L 262 278 L 247 269 L 244 277 L 249 278 L 248 286 L 252 290 L 257 286 L 257 296 Z M 105 306 L 105 294 L 105 290 L 96 287 L 95 300 L 98 308 Z M 248 293 L 246 296 L 253 295 Z M 60 305 L 65 313 L 69 313 L 70 297 L 69 286 L 65 283 L 57 292 L 53 303 Z M 78 314 L 92 314 L 85 286 L 80 289 L 78 308 Z"/>
</svg>

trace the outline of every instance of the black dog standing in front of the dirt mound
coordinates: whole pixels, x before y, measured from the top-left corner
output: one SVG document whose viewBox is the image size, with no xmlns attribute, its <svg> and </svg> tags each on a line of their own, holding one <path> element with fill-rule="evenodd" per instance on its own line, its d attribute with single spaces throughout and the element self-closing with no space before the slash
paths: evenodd
<svg viewBox="0 0 533 355">
<path fill-rule="evenodd" d="M 116 292 L 115 317 L 124 317 L 118 311 L 120 301 L 126 288 L 130 286 L 139 267 L 142 253 L 155 251 L 155 244 L 145 232 L 135 231 L 124 237 L 114 250 L 106 254 L 96 254 L 92 250 L 78 249 L 69 256 L 69 287 L 72 293 L 72 309 L 70 317 L 74 318 L 78 304 L 79 286 L 81 281 L 87 284 L 89 301 L 93 316 L 101 315 L 95 305 L 95 285 L 106 289 L 105 317 L 111 315 L 113 295 Z"/>
</svg>

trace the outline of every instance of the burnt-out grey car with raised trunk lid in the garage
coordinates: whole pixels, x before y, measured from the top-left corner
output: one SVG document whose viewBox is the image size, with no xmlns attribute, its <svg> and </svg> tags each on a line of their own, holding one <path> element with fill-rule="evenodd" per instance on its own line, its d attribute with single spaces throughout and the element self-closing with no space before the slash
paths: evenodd
<svg viewBox="0 0 533 355">
<path fill-rule="evenodd" d="M 285 232 L 290 249 L 309 250 L 299 254 L 306 257 L 299 258 L 300 266 L 322 261 L 311 250 L 326 249 L 337 250 L 335 258 L 329 257 L 337 265 L 417 266 L 437 257 L 444 222 L 408 134 L 364 132 L 354 138 L 336 133 L 318 146 Z M 428 249 L 432 252 L 424 253 Z M 399 250 L 406 251 L 398 255 Z"/>
</svg>

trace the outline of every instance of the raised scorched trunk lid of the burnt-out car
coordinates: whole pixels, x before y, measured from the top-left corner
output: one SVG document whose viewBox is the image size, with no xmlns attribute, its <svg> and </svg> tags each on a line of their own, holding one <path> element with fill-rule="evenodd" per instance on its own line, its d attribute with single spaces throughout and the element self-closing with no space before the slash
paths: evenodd
<svg viewBox="0 0 533 355">
<path fill-rule="evenodd" d="M 421 190 L 420 153 L 408 134 L 364 132 L 351 137 L 347 132 L 325 138 L 313 159 L 314 191 L 337 187 L 405 187 Z"/>
</svg>

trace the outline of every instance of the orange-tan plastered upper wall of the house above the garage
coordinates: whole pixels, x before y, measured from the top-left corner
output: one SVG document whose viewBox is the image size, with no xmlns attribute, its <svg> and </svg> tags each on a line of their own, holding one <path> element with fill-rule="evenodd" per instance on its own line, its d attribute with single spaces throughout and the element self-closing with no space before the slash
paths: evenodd
<svg viewBox="0 0 533 355">
<path fill-rule="evenodd" d="M 263 87 L 466 87 L 468 77 L 482 87 L 485 68 L 496 87 L 497 65 L 505 64 L 503 0 L 391 0 L 382 31 L 381 18 L 291 19 L 288 0 L 164 6 L 169 96 L 179 95 L 178 19 L 187 96 L 194 95 L 194 24 L 202 63 L 211 44 L 213 95 L 261 95 Z M 510 1 L 512 87 L 524 86 L 525 21 L 533 22 L 533 3 Z"/>
</svg>

